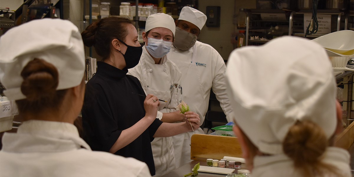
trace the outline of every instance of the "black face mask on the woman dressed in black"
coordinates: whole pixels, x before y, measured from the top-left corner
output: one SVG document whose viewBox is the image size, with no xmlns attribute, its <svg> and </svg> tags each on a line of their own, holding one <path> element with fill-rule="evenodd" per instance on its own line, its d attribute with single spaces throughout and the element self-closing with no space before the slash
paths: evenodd
<svg viewBox="0 0 354 177">
<path fill-rule="evenodd" d="M 134 47 L 134 46 L 130 46 L 125 44 L 125 42 L 121 41 L 120 39 L 118 39 L 120 42 L 122 42 L 124 45 L 126 45 L 127 51 L 125 52 L 125 54 L 123 54 L 122 52 L 120 52 L 125 60 L 125 64 L 126 64 L 126 69 L 130 69 L 130 68 L 134 68 L 140 61 L 140 57 L 141 54 L 143 53 L 143 46 L 140 47 Z"/>
</svg>

